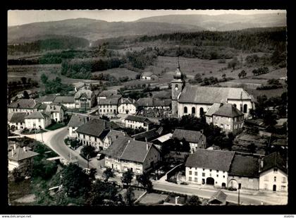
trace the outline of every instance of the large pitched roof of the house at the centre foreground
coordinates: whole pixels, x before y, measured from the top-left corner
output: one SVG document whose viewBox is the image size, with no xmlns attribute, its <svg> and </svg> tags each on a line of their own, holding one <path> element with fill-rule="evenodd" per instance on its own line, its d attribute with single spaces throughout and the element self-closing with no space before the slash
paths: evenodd
<svg viewBox="0 0 296 218">
<path fill-rule="evenodd" d="M 148 150 L 147 150 L 148 145 Z M 125 159 L 132 162 L 144 162 L 151 147 L 156 147 L 152 143 L 141 142 L 132 140 L 127 137 L 118 137 L 107 148 L 104 153 L 111 157 L 118 159 Z M 157 150 L 157 149 L 156 149 Z"/>
</svg>

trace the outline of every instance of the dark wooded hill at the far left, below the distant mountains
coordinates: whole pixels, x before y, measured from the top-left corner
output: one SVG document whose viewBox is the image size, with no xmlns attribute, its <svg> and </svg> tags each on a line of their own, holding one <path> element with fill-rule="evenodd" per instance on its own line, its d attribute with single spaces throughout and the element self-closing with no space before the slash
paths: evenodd
<svg viewBox="0 0 296 218">
<path fill-rule="evenodd" d="M 44 52 L 55 49 L 76 49 L 80 47 L 88 47 L 89 42 L 83 38 L 54 36 L 45 40 L 37 40 L 35 42 L 25 42 L 22 44 L 9 44 L 8 54 Z"/>
</svg>

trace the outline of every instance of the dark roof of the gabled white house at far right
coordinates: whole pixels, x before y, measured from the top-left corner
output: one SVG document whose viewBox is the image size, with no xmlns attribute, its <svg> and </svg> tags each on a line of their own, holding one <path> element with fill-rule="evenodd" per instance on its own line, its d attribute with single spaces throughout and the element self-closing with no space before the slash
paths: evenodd
<svg viewBox="0 0 296 218">
<path fill-rule="evenodd" d="M 273 152 L 263 158 L 263 167 L 260 169 L 260 172 L 264 172 L 275 167 L 287 173 L 287 162 L 285 162 L 285 159 L 279 152 Z"/>
</svg>

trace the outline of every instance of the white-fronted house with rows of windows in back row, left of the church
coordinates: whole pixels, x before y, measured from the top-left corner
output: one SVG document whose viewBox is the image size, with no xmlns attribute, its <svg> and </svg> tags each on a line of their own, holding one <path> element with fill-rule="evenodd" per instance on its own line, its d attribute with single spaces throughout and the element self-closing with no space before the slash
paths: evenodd
<svg viewBox="0 0 296 218">
<path fill-rule="evenodd" d="M 116 95 L 106 99 L 98 99 L 99 114 L 105 116 L 115 116 L 118 114 L 118 102 L 121 95 Z"/>
</svg>

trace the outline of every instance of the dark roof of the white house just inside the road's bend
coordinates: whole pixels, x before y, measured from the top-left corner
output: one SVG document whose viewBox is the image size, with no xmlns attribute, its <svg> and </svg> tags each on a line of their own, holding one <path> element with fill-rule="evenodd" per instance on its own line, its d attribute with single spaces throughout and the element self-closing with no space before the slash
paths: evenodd
<svg viewBox="0 0 296 218">
<path fill-rule="evenodd" d="M 77 133 L 101 137 L 101 133 L 110 128 L 110 123 L 101 119 L 90 119 L 85 124 L 82 124 L 76 130 Z M 104 135 L 106 136 L 106 135 Z"/>
</svg>

